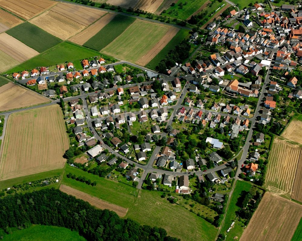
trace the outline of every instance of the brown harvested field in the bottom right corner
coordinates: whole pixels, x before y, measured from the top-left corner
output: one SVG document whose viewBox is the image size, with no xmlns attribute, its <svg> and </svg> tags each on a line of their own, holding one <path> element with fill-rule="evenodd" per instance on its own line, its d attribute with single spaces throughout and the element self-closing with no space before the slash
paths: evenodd
<svg viewBox="0 0 302 241">
<path fill-rule="evenodd" d="M 266 192 L 240 241 L 290 241 L 302 217 L 301 205 Z"/>
</svg>

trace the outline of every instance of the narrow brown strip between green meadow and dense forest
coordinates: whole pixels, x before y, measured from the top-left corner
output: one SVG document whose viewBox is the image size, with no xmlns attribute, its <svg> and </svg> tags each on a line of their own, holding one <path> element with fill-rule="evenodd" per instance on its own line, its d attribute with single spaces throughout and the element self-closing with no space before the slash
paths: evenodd
<svg viewBox="0 0 302 241">
<path fill-rule="evenodd" d="M 79 199 L 82 199 L 86 202 L 89 202 L 92 206 L 95 206 L 96 208 L 108 209 L 108 210 L 114 211 L 120 217 L 125 217 L 125 215 L 127 214 L 128 208 L 122 208 L 118 205 L 114 205 L 114 204 L 106 202 L 102 199 L 93 197 L 93 196 L 91 196 L 91 195 L 89 195 L 85 192 L 81 192 L 77 189 L 66 186 L 64 184 L 62 184 L 60 186 L 60 190 L 62 192 L 65 192 L 65 193 L 69 194 L 69 195 L 75 196 L 76 198 L 79 198 Z"/>
</svg>

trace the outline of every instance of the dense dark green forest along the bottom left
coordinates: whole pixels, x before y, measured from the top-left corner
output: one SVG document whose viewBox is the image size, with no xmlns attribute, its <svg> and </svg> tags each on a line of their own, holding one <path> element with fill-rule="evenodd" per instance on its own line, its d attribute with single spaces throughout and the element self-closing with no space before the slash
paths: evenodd
<svg viewBox="0 0 302 241">
<path fill-rule="evenodd" d="M 0 238 L 3 232 L 10 233 L 11 227 L 42 224 L 78 231 L 87 240 L 180 240 L 167 236 L 162 228 L 141 226 L 112 211 L 95 209 L 57 189 L 9 195 L 0 200 L 0 206 Z"/>
</svg>

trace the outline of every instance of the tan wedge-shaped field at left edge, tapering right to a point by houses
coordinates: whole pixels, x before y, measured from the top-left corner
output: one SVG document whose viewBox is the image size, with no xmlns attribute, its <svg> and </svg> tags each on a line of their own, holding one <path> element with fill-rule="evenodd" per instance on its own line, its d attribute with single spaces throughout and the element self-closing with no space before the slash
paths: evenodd
<svg viewBox="0 0 302 241">
<path fill-rule="evenodd" d="M 19 109 L 37 104 L 47 103 L 50 100 L 25 87 L 9 82 L 0 87 L 0 111 Z"/>
</svg>

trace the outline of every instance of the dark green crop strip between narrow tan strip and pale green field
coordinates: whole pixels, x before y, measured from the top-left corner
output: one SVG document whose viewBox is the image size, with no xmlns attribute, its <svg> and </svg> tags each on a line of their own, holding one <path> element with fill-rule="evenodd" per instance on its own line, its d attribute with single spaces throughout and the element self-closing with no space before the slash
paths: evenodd
<svg viewBox="0 0 302 241">
<path fill-rule="evenodd" d="M 117 14 L 114 19 L 84 43 L 83 46 L 100 51 L 123 33 L 134 21 L 134 17 Z"/>
</svg>

